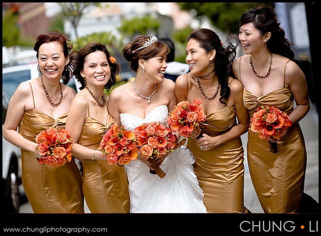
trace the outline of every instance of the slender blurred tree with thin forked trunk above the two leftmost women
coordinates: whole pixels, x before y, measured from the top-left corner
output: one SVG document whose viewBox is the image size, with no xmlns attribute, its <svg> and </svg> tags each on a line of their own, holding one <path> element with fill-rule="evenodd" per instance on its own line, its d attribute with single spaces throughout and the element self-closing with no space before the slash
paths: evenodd
<svg viewBox="0 0 321 236">
<path fill-rule="evenodd" d="M 101 3 L 58 3 L 61 12 L 67 21 L 72 24 L 76 38 L 78 39 L 77 26 L 84 14 L 89 13 L 95 7 L 100 7 Z"/>
</svg>

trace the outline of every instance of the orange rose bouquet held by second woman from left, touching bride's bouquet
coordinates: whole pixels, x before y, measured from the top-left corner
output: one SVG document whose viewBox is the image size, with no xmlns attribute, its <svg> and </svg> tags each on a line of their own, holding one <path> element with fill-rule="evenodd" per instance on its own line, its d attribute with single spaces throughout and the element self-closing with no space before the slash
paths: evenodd
<svg viewBox="0 0 321 236">
<path fill-rule="evenodd" d="M 113 124 L 100 142 L 102 156 L 106 156 L 109 165 L 127 165 L 137 158 L 135 135 L 125 128 Z"/>
</svg>

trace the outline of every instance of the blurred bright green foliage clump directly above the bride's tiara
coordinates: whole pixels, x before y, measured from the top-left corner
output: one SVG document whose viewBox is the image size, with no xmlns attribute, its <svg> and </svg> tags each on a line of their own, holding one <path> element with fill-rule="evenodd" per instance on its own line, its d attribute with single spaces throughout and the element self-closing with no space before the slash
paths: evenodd
<svg viewBox="0 0 321 236">
<path fill-rule="evenodd" d="M 161 23 L 158 19 L 145 15 L 143 17 L 134 17 L 124 19 L 118 28 L 122 39 L 132 41 L 138 35 L 154 35 L 158 31 Z"/>
</svg>

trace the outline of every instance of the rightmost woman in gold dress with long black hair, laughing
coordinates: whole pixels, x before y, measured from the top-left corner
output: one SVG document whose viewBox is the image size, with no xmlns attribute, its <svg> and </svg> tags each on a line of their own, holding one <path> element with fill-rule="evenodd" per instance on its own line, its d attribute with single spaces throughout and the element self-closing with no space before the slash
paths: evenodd
<svg viewBox="0 0 321 236">
<path fill-rule="evenodd" d="M 233 63 L 244 85 L 244 104 L 250 117 L 260 105 L 285 111 L 293 126 L 277 141 L 277 153 L 258 133 L 248 133 L 247 157 L 251 179 L 264 212 L 296 212 L 304 187 L 306 151 L 298 122 L 309 110 L 305 76 L 293 61 L 273 9 L 258 7 L 242 15 L 239 40 L 245 55 Z M 296 103 L 294 107 L 293 103 Z"/>
</svg>

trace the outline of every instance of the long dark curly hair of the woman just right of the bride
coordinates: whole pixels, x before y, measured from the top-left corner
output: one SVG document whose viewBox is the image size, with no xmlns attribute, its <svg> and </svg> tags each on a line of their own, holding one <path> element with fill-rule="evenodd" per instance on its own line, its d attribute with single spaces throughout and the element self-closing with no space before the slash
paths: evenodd
<svg viewBox="0 0 321 236">
<path fill-rule="evenodd" d="M 225 101 L 229 98 L 231 93 L 228 81 L 232 63 L 236 56 L 236 47 L 230 43 L 229 40 L 227 40 L 229 45 L 224 47 L 219 36 L 214 31 L 205 28 L 192 31 L 191 35 L 187 38 L 187 41 L 190 41 L 191 39 L 198 41 L 200 47 L 204 48 L 206 52 L 215 49 L 214 70 L 219 78 L 219 84 L 221 85 L 220 102 L 226 104 Z"/>
</svg>

